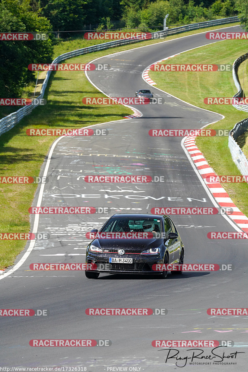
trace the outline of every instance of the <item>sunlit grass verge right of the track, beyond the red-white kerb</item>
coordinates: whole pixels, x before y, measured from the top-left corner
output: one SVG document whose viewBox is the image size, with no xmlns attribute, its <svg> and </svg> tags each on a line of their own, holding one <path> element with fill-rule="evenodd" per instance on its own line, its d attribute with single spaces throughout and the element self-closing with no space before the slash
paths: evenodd
<svg viewBox="0 0 248 372">
<path fill-rule="evenodd" d="M 233 64 L 233 61 L 244 53 L 247 53 L 246 41 L 226 40 L 181 53 L 161 63 Z M 248 116 L 247 112 L 236 110 L 232 105 L 205 105 L 203 103 L 205 97 L 232 97 L 236 93 L 231 71 L 167 73 L 151 71 L 149 76 L 157 82 L 156 87 L 193 105 L 225 116 L 221 121 L 208 126 L 208 129 L 230 130 L 237 122 Z M 228 137 L 198 137 L 196 144 L 216 174 L 240 174 L 232 161 Z M 223 183 L 222 186 L 241 211 L 248 215 L 248 185 L 246 183 Z"/>
</svg>

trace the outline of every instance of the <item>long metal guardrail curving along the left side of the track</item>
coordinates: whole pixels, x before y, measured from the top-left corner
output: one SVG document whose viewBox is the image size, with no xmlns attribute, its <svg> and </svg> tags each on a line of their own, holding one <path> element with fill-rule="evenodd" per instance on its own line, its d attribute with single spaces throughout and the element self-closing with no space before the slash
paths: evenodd
<svg viewBox="0 0 248 372">
<path fill-rule="evenodd" d="M 151 35 L 152 35 L 152 39 L 158 39 L 161 37 L 161 35 L 162 37 L 163 36 L 166 37 L 168 35 L 174 35 L 174 34 L 185 32 L 185 31 L 196 30 L 196 29 L 206 28 L 210 26 L 223 25 L 226 23 L 234 23 L 238 21 L 239 21 L 239 18 L 237 16 L 229 17 L 229 18 L 222 18 L 222 19 L 215 19 L 212 21 L 199 22 L 199 23 L 193 23 L 192 25 L 175 27 L 172 29 L 168 29 L 166 31 L 152 32 Z M 115 41 L 109 41 L 109 42 L 102 43 L 102 44 L 92 45 L 91 47 L 77 49 L 77 50 L 74 50 L 68 53 L 61 54 L 57 58 L 55 58 L 54 61 L 52 61 L 52 64 L 59 63 L 61 61 L 66 60 L 67 58 L 76 57 L 78 55 L 96 52 L 96 51 L 100 51 L 100 50 L 104 50 L 104 49 L 108 49 L 112 47 L 118 47 L 120 45 L 133 44 L 133 43 L 141 42 L 141 41 L 144 41 L 144 40 L 122 39 L 122 40 L 115 40 Z M 38 97 L 36 97 L 37 100 L 42 99 L 44 97 L 45 89 L 48 84 L 48 79 L 49 79 L 50 74 L 51 74 L 51 71 L 48 71 L 46 73 L 45 80 L 42 84 L 41 94 Z M 20 120 L 24 118 L 24 116 L 29 115 L 32 112 L 32 110 L 35 109 L 38 105 L 39 103 L 33 104 L 32 102 L 29 106 L 23 106 L 16 112 L 12 112 L 10 115 L 1 119 L 0 120 L 0 135 L 12 129 L 17 123 L 19 123 Z"/>
</svg>

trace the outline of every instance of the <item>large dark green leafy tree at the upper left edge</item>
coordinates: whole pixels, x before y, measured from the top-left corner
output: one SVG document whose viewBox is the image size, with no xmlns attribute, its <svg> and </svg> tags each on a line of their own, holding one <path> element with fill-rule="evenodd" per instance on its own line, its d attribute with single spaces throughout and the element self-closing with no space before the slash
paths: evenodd
<svg viewBox="0 0 248 372">
<path fill-rule="evenodd" d="M 0 3 L 2 32 L 48 32 L 51 25 L 44 17 L 31 11 L 28 0 L 3 0 Z M 23 87 L 34 80 L 28 70 L 30 63 L 52 61 L 51 39 L 44 41 L 1 41 L 0 43 L 0 96 L 18 98 Z"/>
</svg>

